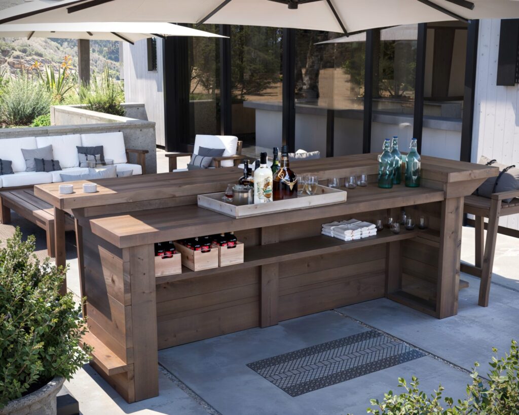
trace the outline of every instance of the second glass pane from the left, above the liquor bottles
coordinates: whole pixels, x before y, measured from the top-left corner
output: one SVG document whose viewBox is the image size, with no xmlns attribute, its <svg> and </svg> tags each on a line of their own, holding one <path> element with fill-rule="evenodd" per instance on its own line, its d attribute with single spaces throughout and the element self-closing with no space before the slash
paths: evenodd
<svg viewBox="0 0 519 415">
<path fill-rule="evenodd" d="M 231 26 L 232 134 L 251 158 L 281 146 L 281 40 L 276 27 Z"/>
</svg>

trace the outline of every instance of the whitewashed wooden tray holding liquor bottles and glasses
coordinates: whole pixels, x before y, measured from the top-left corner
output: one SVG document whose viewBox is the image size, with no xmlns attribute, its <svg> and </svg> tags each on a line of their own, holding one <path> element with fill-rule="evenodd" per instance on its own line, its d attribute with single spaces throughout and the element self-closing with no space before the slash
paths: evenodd
<svg viewBox="0 0 519 415">
<path fill-rule="evenodd" d="M 235 219 L 249 216 L 259 216 L 268 213 L 308 209 L 309 207 L 324 206 L 346 202 L 347 192 L 326 186 L 318 186 L 315 195 L 306 193 L 294 199 L 276 200 L 268 203 L 256 203 L 237 206 L 222 200 L 224 192 L 198 195 L 198 206 L 221 213 Z"/>
</svg>

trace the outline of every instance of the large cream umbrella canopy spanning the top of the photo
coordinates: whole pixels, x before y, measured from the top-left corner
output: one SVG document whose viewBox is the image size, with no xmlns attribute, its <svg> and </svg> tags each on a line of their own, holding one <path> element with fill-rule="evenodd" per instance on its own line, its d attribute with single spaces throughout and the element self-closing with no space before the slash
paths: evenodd
<svg viewBox="0 0 519 415">
<path fill-rule="evenodd" d="M 287 6 L 290 7 L 287 7 Z M 298 7 L 297 7 L 298 6 Z M 352 33 L 458 19 L 519 18 L 515 0 L 35 0 L 0 12 L 0 23 L 172 21 Z"/>
</svg>

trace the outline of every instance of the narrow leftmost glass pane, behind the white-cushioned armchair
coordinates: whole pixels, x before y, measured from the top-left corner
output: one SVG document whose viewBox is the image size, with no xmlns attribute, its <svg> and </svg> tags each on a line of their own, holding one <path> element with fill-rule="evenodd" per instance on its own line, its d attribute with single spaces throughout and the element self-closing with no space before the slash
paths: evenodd
<svg viewBox="0 0 519 415">
<path fill-rule="evenodd" d="M 219 33 L 215 24 L 198 29 Z M 189 142 L 196 134 L 220 134 L 220 41 L 211 37 L 189 38 Z"/>
</svg>

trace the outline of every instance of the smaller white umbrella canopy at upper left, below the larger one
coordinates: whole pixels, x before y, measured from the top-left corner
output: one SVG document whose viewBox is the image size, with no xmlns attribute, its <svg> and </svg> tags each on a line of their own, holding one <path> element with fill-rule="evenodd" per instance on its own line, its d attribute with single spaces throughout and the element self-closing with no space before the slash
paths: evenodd
<svg viewBox="0 0 519 415">
<path fill-rule="evenodd" d="M 214 33 L 162 22 L 16 23 L 0 24 L 0 37 L 59 37 L 63 39 L 125 40 L 134 43 L 148 37 L 203 36 Z"/>
</svg>

